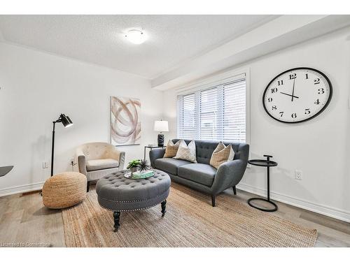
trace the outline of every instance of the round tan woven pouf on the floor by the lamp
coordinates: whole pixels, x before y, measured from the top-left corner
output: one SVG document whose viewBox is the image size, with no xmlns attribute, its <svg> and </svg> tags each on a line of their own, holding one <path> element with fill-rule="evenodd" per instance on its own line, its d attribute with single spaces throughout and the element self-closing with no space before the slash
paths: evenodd
<svg viewBox="0 0 350 262">
<path fill-rule="evenodd" d="M 69 208 L 86 197 L 86 176 L 77 172 L 54 175 L 43 185 L 43 204 L 47 208 Z"/>
</svg>

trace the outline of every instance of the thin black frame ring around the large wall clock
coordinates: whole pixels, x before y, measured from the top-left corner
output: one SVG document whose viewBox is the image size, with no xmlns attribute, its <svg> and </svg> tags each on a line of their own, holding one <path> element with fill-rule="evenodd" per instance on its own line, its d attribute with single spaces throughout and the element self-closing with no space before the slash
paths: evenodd
<svg viewBox="0 0 350 262">
<path fill-rule="evenodd" d="M 311 70 L 311 71 L 315 71 L 317 73 L 319 73 L 320 75 L 323 76 L 323 78 L 325 78 L 325 80 L 327 80 L 329 88 L 330 88 L 330 94 L 328 96 L 328 100 L 325 103 L 325 105 L 323 105 L 323 108 L 321 110 L 319 110 L 315 115 L 313 115 L 312 117 L 309 117 L 307 119 L 304 120 L 300 120 L 300 121 L 296 121 L 296 122 L 287 122 L 287 121 L 283 121 L 281 119 L 277 119 L 276 117 L 272 116 L 269 111 L 267 111 L 267 108 L 265 106 L 265 94 L 267 92 L 267 89 L 269 88 L 269 86 L 272 84 L 272 82 L 274 82 L 274 80 L 276 80 L 276 78 L 279 78 L 281 75 L 283 75 L 284 73 L 287 73 L 289 71 L 293 71 L 293 70 L 300 70 L 300 69 L 306 69 L 306 70 Z M 333 87 L 332 87 L 332 83 L 330 82 L 329 78 L 327 77 L 327 75 L 325 75 L 324 73 L 322 73 L 321 71 L 315 69 L 315 68 L 311 68 L 311 67 L 295 67 L 295 68 L 291 68 L 288 69 L 286 71 L 283 71 L 282 73 L 280 73 L 279 75 L 276 75 L 276 77 L 274 79 L 272 79 L 269 84 L 266 86 L 264 94 L 262 94 L 262 105 L 264 106 L 265 112 L 267 112 L 267 115 L 269 115 L 270 117 L 272 117 L 273 119 L 277 120 L 278 122 L 282 122 L 282 123 L 286 123 L 286 124 L 297 124 L 297 123 L 301 123 L 301 122 L 306 122 L 308 120 L 313 119 L 314 117 L 317 117 L 318 115 L 321 114 L 321 112 L 323 112 L 325 110 L 325 108 L 328 107 L 330 100 L 332 99 L 332 95 L 333 95 Z"/>
</svg>

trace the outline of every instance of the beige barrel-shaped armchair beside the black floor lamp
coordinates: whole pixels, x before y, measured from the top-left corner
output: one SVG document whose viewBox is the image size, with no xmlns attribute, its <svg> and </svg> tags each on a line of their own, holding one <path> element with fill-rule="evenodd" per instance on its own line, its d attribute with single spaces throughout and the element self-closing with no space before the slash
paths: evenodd
<svg viewBox="0 0 350 262">
<path fill-rule="evenodd" d="M 120 152 L 116 146 L 97 142 L 80 145 L 76 149 L 76 162 L 79 172 L 87 177 L 87 191 L 90 181 L 99 180 L 104 175 L 123 170 L 125 152 Z"/>
</svg>

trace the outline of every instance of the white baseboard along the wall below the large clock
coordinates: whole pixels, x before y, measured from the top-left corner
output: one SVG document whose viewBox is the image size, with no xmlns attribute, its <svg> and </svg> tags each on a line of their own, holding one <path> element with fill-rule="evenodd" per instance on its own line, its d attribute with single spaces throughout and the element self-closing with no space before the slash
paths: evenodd
<svg viewBox="0 0 350 262">
<path fill-rule="evenodd" d="M 237 189 L 241 189 L 243 191 L 247 191 L 249 193 L 256 194 L 259 196 L 266 196 L 267 194 L 266 189 L 259 189 L 257 187 L 252 187 L 244 183 L 237 184 Z M 304 201 L 300 198 L 286 196 L 284 194 L 276 193 L 273 191 L 270 192 L 270 198 L 272 198 L 275 201 L 286 203 L 288 205 L 294 205 L 297 208 L 303 208 L 305 210 L 316 212 L 318 214 L 324 214 L 328 217 L 333 217 L 335 219 L 350 222 L 350 212 L 347 212 L 346 210 L 339 210 L 337 208 L 332 208 L 327 205 L 311 203 L 309 201 Z"/>
</svg>

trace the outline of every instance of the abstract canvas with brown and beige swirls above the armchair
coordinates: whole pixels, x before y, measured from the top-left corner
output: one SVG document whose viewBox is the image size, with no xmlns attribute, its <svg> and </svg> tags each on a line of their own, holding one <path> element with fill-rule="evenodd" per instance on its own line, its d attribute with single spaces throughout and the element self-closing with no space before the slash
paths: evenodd
<svg viewBox="0 0 350 262">
<path fill-rule="evenodd" d="M 139 145 L 140 139 L 140 100 L 111 96 L 111 144 Z"/>
</svg>

